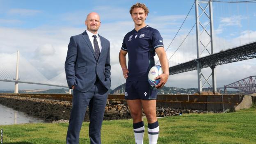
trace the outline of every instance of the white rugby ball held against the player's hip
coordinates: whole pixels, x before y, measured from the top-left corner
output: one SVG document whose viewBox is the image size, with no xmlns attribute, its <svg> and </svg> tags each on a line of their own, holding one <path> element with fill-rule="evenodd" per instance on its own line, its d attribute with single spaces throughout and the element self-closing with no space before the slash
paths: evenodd
<svg viewBox="0 0 256 144">
<path fill-rule="evenodd" d="M 155 78 L 161 74 L 162 74 L 162 67 L 159 65 L 155 65 L 149 70 L 148 80 L 149 80 L 149 84 L 152 87 L 155 87 L 160 83 L 160 79 L 155 80 Z"/>
</svg>

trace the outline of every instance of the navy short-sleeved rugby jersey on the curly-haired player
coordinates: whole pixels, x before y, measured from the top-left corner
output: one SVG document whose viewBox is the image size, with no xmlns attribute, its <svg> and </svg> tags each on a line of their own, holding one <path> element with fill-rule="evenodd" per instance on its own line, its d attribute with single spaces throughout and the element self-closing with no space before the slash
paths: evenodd
<svg viewBox="0 0 256 144">
<path fill-rule="evenodd" d="M 121 48 L 128 52 L 127 81 L 148 81 L 149 70 L 155 65 L 155 49 L 163 46 L 160 33 L 149 25 L 128 32 Z"/>
</svg>

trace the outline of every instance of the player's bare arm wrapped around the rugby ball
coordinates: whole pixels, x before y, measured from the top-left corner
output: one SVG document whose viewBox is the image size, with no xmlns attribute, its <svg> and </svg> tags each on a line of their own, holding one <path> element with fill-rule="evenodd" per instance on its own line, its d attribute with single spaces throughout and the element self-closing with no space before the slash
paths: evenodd
<svg viewBox="0 0 256 144">
<path fill-rule="evenodd" d="M 158 55 L 160 64 L 162 66 L 163 73 L 155 78 L 155 80 L 160 78 L 160 83 L 155 86 L 155 88 L 159 89 L 165 85 L 169 77 L 169 63 L 165 53 L 164 47 L 159 47 L 155 49 L 155 53 Z"/>
</svg>

